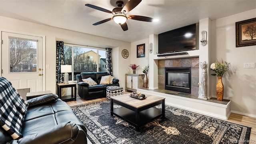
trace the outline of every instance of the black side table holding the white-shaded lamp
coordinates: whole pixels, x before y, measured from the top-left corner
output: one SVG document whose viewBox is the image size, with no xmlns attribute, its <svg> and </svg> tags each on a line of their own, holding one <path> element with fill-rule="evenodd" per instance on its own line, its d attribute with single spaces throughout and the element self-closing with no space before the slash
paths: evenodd
<svg viewBox="0 0 256 144">
<path fill-rule="evenodd" d="M 61 89 L 62 88 L 71 88 L 71 95 L 69 96 L 61 96 Z M 73 88 L 75 89 L 75 92 L 73 92 Z M 64 83 L 58 83 L 57 84 L 57 93 L 58 96 L 61 100 L 68 102 L 71 100 L 75 100 L 76 101 L 76 83 L 74 82 L 70 82 L 68 84 L 64 84 Z"/>
</svg>

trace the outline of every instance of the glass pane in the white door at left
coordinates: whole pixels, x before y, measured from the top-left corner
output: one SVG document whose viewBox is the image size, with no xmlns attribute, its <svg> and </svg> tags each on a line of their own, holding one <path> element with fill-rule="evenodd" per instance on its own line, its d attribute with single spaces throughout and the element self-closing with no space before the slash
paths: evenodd
<svg viewBox="0 0 256 144">
<path fill-rule="evenodd" d="M 37 41 L 9 38 L 9 72 L 37 72 Z"/>
</svg>

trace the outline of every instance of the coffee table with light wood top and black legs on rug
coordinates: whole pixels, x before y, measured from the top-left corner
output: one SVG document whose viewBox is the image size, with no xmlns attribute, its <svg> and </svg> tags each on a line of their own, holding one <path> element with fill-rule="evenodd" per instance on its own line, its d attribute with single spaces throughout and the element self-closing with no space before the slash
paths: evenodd
<svg viewBox="0 0 256 144">
<path fill-rule="evenodd" d="M 111 116 L 115 115 L 135 126 L 139 131 L 140 126 L 162 116 L 165 118 L 165 98 L 159 96 L 146 95 L 146 99 L 139 100 L 123 94 L 111 97 Z M 114 109 L 114 103 L 122 107 Z M 153 108 L 162 104 L 162 110 Z"/>
</svg>

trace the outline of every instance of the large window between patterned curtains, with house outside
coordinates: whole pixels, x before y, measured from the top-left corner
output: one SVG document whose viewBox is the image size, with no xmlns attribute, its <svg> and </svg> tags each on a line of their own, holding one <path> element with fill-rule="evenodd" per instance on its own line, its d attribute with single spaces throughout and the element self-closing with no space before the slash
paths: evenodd
<svg viewBox="0 0 256 144">
<path fill-rule="evenodd" d="M 65 64 L 72 65 L 69 80 L 76 80 L 76 74 L 81 72 L 106 72 L 106 66 L 100 68 L 102 63 L 106 64 L 106 50 L 103 48 L 64 44 L 64 60 Z"/>
</svg>

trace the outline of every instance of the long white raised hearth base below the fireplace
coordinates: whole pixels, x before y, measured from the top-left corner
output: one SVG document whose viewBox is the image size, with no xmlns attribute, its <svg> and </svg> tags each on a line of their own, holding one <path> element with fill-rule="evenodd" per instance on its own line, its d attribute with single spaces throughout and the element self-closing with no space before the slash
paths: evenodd
<svg viewBox="0 0 256 144">
<path fill-rule="evenodd" d="M 165 98 L 166 105 L 174 106 L 191 112 L 196 112 L 206 116 L 211 116 L 214 118 L 227 120 L 231 114 L 231 100 L 226 104 L 221 104 L 207 100 L 186 98 L 162 92 L 155 92 L 153 90 L 146 90 L 144 88 L 138 88 L 137 92 L 163 97 Z"/>
</svg>

